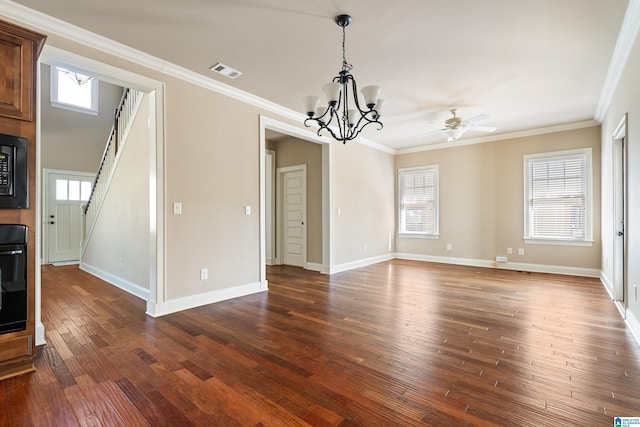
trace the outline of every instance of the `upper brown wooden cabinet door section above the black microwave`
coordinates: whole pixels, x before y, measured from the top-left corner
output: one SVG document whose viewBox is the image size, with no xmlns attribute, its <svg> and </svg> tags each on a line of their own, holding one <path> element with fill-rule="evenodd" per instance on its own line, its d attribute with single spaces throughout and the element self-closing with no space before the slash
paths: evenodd
<svg viewBox="0 0 640 427">
<path fill-rule="evenodd" d="M 45 36 L 0 21 L 0 116 L 32 121 L 36 66 Z"/>
</svg>

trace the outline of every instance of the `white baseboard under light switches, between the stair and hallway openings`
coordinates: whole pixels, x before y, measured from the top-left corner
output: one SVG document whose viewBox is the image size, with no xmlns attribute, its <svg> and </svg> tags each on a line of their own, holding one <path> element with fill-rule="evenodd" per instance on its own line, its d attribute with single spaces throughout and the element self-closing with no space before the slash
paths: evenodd
<svg viewBox="0 0 640 427">
<path fill-rule="evenodd" d="M 190 308 L 200 307 L 207 304 L 213 304 L 215 302 L 255 294 L 258 292 L 266 291 L 268 290 L 268 288 L 269 285 L 267 282 L 264 282 L 264 284 L 261 284 L 260 282 L 254 282 L 246 285 L 205 292 L 202 294 L 175 298 L 160 303 L 147 301 L 147 314 L 152 317 L 164 316 L 166 314 L 188 310 Z"/>
</svg>

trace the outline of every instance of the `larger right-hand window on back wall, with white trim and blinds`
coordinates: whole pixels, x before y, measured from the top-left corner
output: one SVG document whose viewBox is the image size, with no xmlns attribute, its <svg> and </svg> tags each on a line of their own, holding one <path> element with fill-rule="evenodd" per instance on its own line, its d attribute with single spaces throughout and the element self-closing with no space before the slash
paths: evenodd
<svg viewBox="0 0 640 427">
<path fill-rule="evenodd" d="M 524 156 L 527 243 L 590 244 L 591 149 Z"/>
</svg>

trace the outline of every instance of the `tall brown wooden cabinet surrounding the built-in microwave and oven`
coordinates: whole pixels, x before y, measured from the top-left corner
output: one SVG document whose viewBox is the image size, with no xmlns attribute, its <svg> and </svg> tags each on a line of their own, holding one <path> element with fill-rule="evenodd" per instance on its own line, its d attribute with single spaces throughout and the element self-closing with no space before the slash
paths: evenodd
<svg viewBox="0 0 640 427">
<path fill-rule="evenodd" d="M 0 379 L 32 371 L 35 356 L 36 67 L 45 39 L 0 21 L 0 133 L 28 140 L 29 183 L 29 208 L 0 209 L 0 224 L 24 224 L 28 230 L 27 327 L 0 334 Z"/>
</svg>

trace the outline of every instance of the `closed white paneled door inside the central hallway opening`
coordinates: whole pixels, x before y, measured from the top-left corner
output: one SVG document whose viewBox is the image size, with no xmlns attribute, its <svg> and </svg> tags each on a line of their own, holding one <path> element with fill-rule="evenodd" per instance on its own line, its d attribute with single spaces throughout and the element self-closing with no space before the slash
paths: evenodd
<svg viewBox="0 0 640 427">
<path fill-rule="evenodd" d="M 307 257 L 306 165 L 280 169 L 282 263 L 304 267 Z"/>
</svg>

